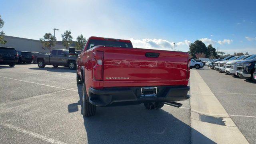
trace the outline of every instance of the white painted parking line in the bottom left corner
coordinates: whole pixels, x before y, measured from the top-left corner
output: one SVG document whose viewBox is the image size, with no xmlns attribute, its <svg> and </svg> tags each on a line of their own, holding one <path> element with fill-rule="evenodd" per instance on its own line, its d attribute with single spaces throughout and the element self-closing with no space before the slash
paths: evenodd
<svg viewBox="0 0 256 144">
<path fill-rule="evenodd" d="M 7 127 L 7 128 L 10 128 L 10 129 L 12 129 L 12 130 L 16 130 L 16 131 L 18 131 L 18 132 L 22 132 L 22 133 L 24 133 L 24 134 L 28 134 L 28 135 L 30 135 L 30 136 L 33 136 L 34 138 L 39 138 L 39 139 L 44 140 L 44 141 L 46 141 L 46 142 L 50 142 L 50 143 L 52 143 L 52 144 L 66 144 L 66 143 L 64 143 L 64 142 L 60 142 L 60 141 L 58 141 L 58 140 L 54 140 L 54 139 L 49 138 L 49 137 L 47 137 L 47 136 L 43 136 L 43 135 L 41 135 L 41 134 L 37 134 L 37 133 L 31 132 L 31 131 L 29 131 L 29 130 L 25 130 L 24 128 L 20 128 L 20 127 L 18 127 L 18 126 L 14 126 L 14 125 L 11 125 L 11 124 L 4 124 L 3 126 L 5 126 L 5 127 Z"/>
</svg>

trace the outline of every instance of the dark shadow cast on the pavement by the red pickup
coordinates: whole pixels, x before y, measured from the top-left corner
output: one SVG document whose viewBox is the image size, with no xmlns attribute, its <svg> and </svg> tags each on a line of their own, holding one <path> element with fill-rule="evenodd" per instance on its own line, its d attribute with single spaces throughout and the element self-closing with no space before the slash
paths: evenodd
<svg viewBox="0 0 256 144">
<path fill-rule="evenodd" d="M 82 85 L 78 86 L 82 90 Z M 68 105 L 69 112 L 78 111 L 75 107 L 82 103 L 81 90 L 80 100 Z M 146 110 L 143 104 L 97 107 L 95 116 L 83 118 L 88 144 L 190 144 L 191 132 L 203 144 L 216 144 L 165 110 Z"/>
</svg>

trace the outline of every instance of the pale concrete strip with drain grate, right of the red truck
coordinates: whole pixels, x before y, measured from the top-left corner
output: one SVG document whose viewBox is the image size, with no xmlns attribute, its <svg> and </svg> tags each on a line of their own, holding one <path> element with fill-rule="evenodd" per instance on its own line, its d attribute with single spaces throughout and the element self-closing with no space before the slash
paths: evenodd
<svg viewBox="0 0 256 144">
<path fill-rule="evenodd" d="M 190 74 L 192 144 L 248 144 L 197 70 Z M 200 115 L 222 118 L 225 126 L 200 121 Z"/>
</svg>

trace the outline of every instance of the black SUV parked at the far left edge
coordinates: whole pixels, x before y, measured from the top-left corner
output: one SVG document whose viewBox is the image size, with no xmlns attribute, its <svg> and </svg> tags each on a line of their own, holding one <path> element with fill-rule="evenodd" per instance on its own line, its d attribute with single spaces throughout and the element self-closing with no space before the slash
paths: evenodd
<svg viewBox="0 0 256 144">
<path fill-rule="evenodd" d="M 15 66 L 18 62 L 18 54 L 14 48 L 0 47 L 0 64 L 9 64 Z"/>
</svg>

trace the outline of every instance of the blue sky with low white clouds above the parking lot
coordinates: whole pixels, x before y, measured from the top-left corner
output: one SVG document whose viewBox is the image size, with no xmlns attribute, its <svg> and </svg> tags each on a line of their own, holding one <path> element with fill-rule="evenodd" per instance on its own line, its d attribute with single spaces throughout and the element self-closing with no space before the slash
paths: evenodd
<svg viewBox="0 0 256 144">
<path fill-rule="evenodd" d="M 202 40 L 220 51 L 256 53 L 256 1 L 167 0 L 85 1 L 0 0 L 6 35 L 39 39 L 65 30 L 74 39 L 83 34 L 130 39 L 134 46 L 188 51 Z"/>
</svg>

